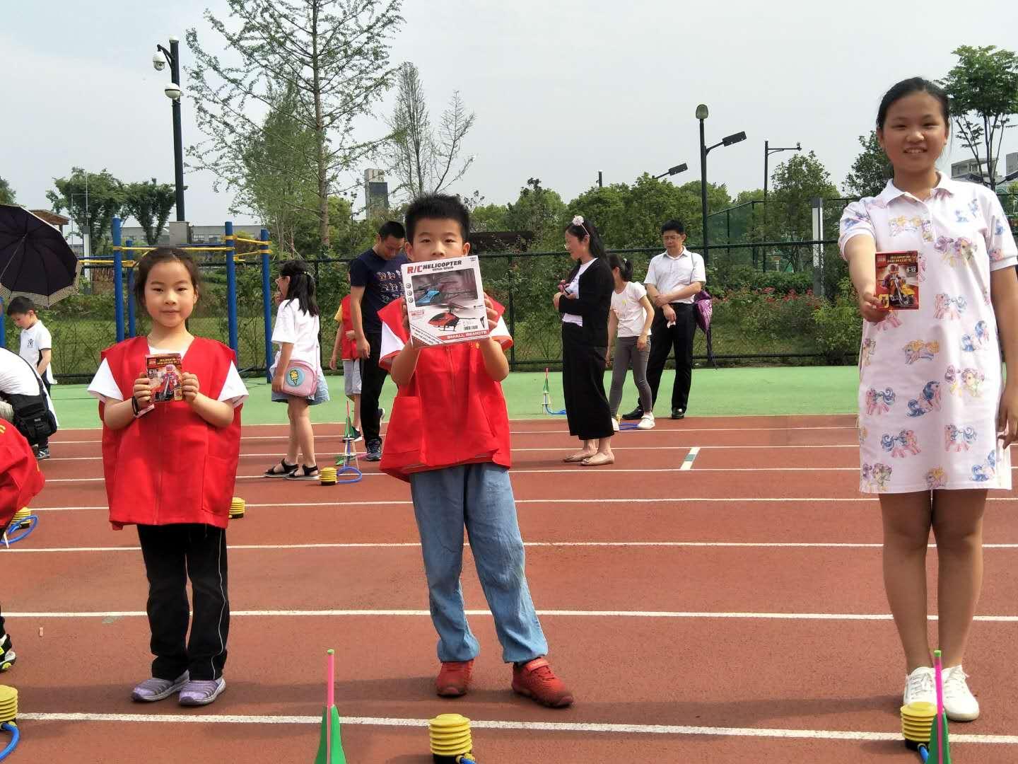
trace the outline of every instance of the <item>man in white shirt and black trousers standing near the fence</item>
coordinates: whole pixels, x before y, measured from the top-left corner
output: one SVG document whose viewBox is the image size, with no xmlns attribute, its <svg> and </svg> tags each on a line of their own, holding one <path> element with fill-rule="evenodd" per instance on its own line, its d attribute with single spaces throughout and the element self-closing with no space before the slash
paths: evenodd
<svg viewBox="0 0 1018 764">
<path fill-rule="evenodd" d="M 651 357 L 646 365 L 646 381 L 651 395 L 658 400 L 661 374 L 672 348 L 675 348 L 675 384 L 672 386 L 672 419 L 686 416 L 689 403 L 689 385 L 693 374 L 693 335 L 696 332 L 696 310 L 693 298 L 703 288 L 706 271 L 703 258 L 685 248 L 686 228 L 678 220 L 669 220 L 661 226 L 665 252 L 651 261 L 643 285 L 654 304 L 654 323 L 651 325 Z M 643 410 L 636 408 L 622 415 L 622 419 L 636 420 Z"/>
</svg>

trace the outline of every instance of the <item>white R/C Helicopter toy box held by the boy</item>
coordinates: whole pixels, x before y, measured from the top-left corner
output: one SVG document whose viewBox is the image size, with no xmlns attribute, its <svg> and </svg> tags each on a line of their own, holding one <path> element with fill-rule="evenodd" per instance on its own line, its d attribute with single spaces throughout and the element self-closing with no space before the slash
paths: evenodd
<svg viewBox="0 0 1018 764">
<path fill-rule="evenodd" d="M 418 345 L 468 342 L 491 333 L 475 256 L 407 263 L 403 293 L 410 337 Z"/>
</svg>

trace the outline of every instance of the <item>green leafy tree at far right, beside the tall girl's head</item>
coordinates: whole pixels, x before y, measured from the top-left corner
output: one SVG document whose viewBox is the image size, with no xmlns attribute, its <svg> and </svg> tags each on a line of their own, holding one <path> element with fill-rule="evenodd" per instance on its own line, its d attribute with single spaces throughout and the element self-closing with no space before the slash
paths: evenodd
<svg viewBox="0 0 1018 764">
<path fill-rule="evenodd" d="M 963 45 L 953 53 L 958 63 L 941 85 L 953 101 L 962 144 L 972 152 L 983 182 L 996 188 L 1004 130 L 1018 113 L 1018 55 L 995 45 Z"/>
</svg>

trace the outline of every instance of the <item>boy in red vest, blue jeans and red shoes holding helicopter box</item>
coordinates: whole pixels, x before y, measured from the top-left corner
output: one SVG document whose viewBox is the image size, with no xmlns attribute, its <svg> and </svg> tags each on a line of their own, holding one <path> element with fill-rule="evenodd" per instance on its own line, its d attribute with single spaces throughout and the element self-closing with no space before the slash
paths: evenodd
<svg viewBox="0 0 1018 764">
<path fill-rule="evenodd" d="M 463 257 L 470 251 L 469 232 L 469 215 L 454 197 L 422 197 L 406 211 L 411 260 Z M 459 581 L 465 525 L 502 658 L 513 664 L 512 689 L 564 708 L 573 696 L 545 658 L 548 642 L 523 572 L 523 541 L 509 481 L 509 417 L 499 382 L 509 374 L 504 349 L 512 339 L 500 318 L 502 307 L 486 302 L 495 325 L 491 335 L 444 347 L 410 342 L 404 299 L 379 311 L 380 365 L 390 369 L 399 386 L 381 469 L 410 483 L 432 621 L 439 634 L 438 694 L 467 692 L 478 652 Z"/>
</svg>

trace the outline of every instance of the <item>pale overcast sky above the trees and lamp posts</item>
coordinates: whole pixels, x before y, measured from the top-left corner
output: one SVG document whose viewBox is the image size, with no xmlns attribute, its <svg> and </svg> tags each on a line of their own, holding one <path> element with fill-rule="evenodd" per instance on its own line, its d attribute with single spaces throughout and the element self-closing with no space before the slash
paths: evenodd
<svg viewBox="0 0 1018 764">
<path fill-rule="evenodd" d="M 217 48 L 207 8 L 227 12 L 225 0 L 51 0 L 5 9 L 0 177 L 18 203 L 48 209 L 53 178 L 73 166 L 173 182 L 169 76 L 153 69 L 152 54 L 172 35 L 183 41 L 189 28 Z M 709 157 L 708 179 L 733 197 L 761 187 L 765 141 L 800 142 L 841 186 L 857 137 L 871 128 L 891 85 L 944 76 L 959 45 L 1013 50 L 1018 29 L 1013 0 L 406 0 L 403 15 L 392 58 L 418 67 L 433 119 L 454 91 L 476 114 L 464 147 L 476 159 L 452 190 L 476 189 L 500 204 L 514 201 L 529 177 L 566 201 L 599 171 L 606 184 L 631 182 L 685 162 L 689 170 L 673 179 L 698 179 L 700 103 L 710 107 L 709 144 L 740 130 L 748 137 Z M 181 103 L 187 146 L 202 135 L 186 96 Z M 365 120 L 363 137 L 381 124 Z M 1018 129 L 1005 138 L 1002 157 L 1013 151 Z M 771 167 L 789 156 L 772 156 Z M 943 163 L 968 156 L 955 142 Z M 229 213 L 232 199 L 214 181 L 186 172 L 188 219 L 249 222 Z"/>
</svg>

